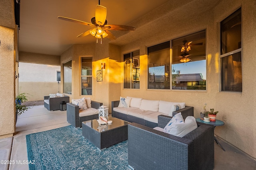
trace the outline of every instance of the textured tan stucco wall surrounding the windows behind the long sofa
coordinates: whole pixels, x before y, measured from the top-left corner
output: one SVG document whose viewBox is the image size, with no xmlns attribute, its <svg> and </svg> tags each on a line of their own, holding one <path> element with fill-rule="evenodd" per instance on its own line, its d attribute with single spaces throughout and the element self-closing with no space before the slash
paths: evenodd
<svg viewBox="0 0 256 170">
<path fill-rule="evenodd" d="M 190 4 L 191 5 L 191 4 Z M 242 72 L 243 72 L 243 92 L 224 93 L 219 92 L 220 88 L 220 59 L 219 59 L 219 22 L 232 14 L 242 5 Z M 186 8 L 186 7 L 185 7 Z M 121 48 L 122 55 L 140 49 L 140 90 L 123 89 L 121 83 L 121 96 L 133 96 L 150 100 L 166 100 L 172 102 L 186 102 L 187 106 L 194 106 L 194 117 L 200 117 L 200 110 L 204 103 L 207 109 L 214 108 L 219 113 L 217 119 L 227 121 L 222 127 L 216 127 L 215 134 L 243 150 L 250 156 L 256 158 L 256 123 L 255 109 L 256 90 L 252 88 L 256 80 L 254 79 L 254 67 L 256 65 L 255 33 L 256 26 L 256 1 L 255 0 L 223 0 L 211 12 L 195 12 L 194 15 L 182 15 L 182 20 L 176 20 L 180 14 L 184 14 L 184 6 L 177 8 L 157 21 L 150 24 L 157 25 L 158 21 L 168 18 L 169 25 L 164 29 L 154 32 L 146 37 L 133 41 Z M 203 10 L 202 10 L 203 11 Z M 190 13 L 191 14 L 191 13 Z M 184 22 L 185 21 L 185 22 Z M 171 24 L 175 23 L 175 24 Z M 160 27 L 160 25 L 158 25 Z M 164 41 L 170 41 L 196 31 L 206 29 L 206 54 L 207 54 L 207 91 L 181 91 L 181 90 L 148 90 L 147 89 L 147 63 L 148 57 L 146 49 L 151 45 L 156 45 Z M 146 30 L 145 30 L 146 31 Z M 123 68 L 123 64 L 121 66 Z M 121 68 L 121 70 L 123 70 Z M 122 73 L 123 74 L 123 73 Z M 117 98 L 118 99 L 118 98 Z"/>
</svg>

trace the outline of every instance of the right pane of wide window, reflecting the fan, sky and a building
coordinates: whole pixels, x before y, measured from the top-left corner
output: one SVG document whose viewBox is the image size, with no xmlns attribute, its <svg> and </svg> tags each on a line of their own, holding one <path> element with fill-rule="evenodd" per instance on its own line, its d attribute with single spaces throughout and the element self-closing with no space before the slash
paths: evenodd
<svg viewBox="0 0 256 170">
<path fill-rule="evenodd" d="M 206 31 L 172 40 L 172 89 L 206 90 Z"/>
</svg>

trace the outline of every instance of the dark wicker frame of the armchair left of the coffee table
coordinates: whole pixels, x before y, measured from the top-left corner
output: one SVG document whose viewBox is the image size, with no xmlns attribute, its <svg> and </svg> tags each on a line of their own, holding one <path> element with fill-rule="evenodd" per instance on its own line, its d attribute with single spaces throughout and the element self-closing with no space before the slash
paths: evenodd
<svg viewBox="0 0 256 170">
<path fill-rule="evenodd" d="M 100 102 L 95 102 L 92 101 L 92 108 L 98 109 L 100 106 L 103 104 Z M 67 121 L 74 127 L 82 127 L 82 122 L 83 121 L 88 121 L 92 119 L 98 119 L 99 118 L 99 113 L 94 115 L 88 115 L 84 117 L 79 117 L 79 107 L 75 104 L 72 103 L 67 103 Z"/>
</svg>

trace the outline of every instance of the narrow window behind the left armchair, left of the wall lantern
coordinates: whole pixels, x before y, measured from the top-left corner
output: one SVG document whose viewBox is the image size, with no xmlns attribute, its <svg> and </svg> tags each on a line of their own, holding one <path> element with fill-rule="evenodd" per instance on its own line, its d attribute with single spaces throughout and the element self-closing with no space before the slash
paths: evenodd
<svg viewBox="0 0 256 170">
<path fill-rule="evenodd" d="M 82 57 L 81 63 L 81 94 L 92 95 L 92 57 Z"/>
</svg>

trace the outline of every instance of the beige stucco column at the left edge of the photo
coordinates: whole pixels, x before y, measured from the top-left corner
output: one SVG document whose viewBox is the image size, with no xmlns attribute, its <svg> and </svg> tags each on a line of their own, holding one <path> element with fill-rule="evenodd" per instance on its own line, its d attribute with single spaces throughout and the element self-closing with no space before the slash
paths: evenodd
<svg viewBox="0 0 256 170">
<path fill-rule="evenodd" d="M 14 29 L 0 26 L 0 138 L 15 131 L 15 53 Z"/>
</svg>

